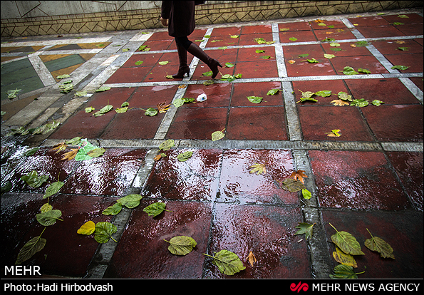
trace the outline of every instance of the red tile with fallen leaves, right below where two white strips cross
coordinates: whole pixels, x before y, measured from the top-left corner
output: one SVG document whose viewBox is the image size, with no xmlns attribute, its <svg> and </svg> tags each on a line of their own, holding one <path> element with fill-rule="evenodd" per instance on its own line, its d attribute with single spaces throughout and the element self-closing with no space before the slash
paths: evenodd
<svg viewBox="0 0 424 295">
<path fill-rule="evenodd" d="M 301 103 L 302 105 L 333 105 L 333 103 L 331 103 L 331 100 L 338 99 L 338 93 L 340 91 L 346 92 L 349 95 L 351 94 L 349 93 L 345 83 L 342 80 L 293 81 L 292 83 L 293 83 L 294 97 L 296 101 L 300 100 L 302 96 L 301 91 L 303 92 L 311 91 L 315 93 L 321 90 L 331 90 L 330 96 L 323 98 L 321 96 L 314 95 L 313 98 L 318 100 L 317 102 L 306 100 L 304 103 Z"/>
</svg>

